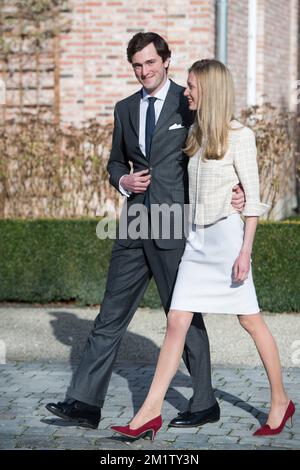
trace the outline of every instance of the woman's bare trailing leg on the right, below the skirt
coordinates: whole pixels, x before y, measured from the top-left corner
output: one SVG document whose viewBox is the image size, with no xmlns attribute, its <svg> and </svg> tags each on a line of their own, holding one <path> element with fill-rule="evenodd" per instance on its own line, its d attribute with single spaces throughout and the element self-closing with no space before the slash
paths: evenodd
<svg viewBox="0 0 300 470">
<path fill-rule="evenodd" d="M 241 326 L 252 336 L 271 387 L 271 409 L 267 424 L 277 428 L 289 403 L 282 383 L 282 372 L 278 348 L 262 315 L 239 315 Z"/>
</svg>

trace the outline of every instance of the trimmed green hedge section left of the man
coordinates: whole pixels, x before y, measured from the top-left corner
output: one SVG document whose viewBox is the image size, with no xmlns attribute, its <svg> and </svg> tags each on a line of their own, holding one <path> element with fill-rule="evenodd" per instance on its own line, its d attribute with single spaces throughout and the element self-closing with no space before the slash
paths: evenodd
<svg viewBox="0 0 300 470">
<path fill-rule="evenodd" d="M 96 237 L 95 220 L 0 222 L 0 299 L 99 303 L 109 240 Z"/>
</svg>

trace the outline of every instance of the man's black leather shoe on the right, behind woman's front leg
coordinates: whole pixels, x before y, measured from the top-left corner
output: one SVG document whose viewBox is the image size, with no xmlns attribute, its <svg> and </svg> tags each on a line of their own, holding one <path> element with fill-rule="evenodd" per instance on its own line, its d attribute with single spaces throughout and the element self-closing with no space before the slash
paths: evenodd
<svg viewBox="0 0 300 470">
<path fill-rule="evenodd" d="M 206 423 L 216 423 L 220 419 L 220 407 L 216 402 L 215 405 L 207 408 L 206 410 L 196 411 L 191 413 L 190 411 L 184 411 L 179 413 L 176 418 L 173 418 L 169 423 L 171 428 L 193 428 L 195 426 L 202 426 Z"/>
</svg>

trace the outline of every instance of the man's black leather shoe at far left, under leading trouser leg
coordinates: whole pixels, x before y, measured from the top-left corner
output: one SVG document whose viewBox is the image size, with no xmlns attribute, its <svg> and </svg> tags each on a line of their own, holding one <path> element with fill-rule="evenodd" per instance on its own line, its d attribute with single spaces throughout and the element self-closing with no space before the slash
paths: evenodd
<svg viewBox="0 0 300 470">
<path fill-rule="evenodd" d="M 101 418 L 100 408 L 77 400 L 48 403 L 46 408 L 54 415 L 68 421 L 76 421 L 79 426 L 84 428 L 97 429 Z"/>
</svg>

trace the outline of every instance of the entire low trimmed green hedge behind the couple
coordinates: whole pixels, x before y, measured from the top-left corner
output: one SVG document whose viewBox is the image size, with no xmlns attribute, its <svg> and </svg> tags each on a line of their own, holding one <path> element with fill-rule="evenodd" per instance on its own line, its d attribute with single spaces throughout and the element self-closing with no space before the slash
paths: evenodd
<svg viewBox="0 0 300 470">
<path fill-rule="evenodd" d="M 101 302 L 111 240 L 97 221 L 0 220 L 0 301 Z M 253 253 L 259 303 L 273 312 L 300 311 L 300 223 L 259 224 Z M 152 282 L 143 306 L 160 306 Z"/>
</svg>

